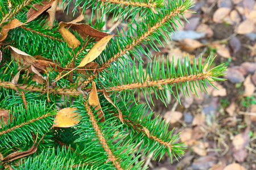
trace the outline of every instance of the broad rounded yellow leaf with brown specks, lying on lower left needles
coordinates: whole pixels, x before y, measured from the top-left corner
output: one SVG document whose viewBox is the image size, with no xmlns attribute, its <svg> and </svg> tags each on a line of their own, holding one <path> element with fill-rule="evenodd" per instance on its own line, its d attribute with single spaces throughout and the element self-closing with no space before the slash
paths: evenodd
<svg viewBox="0 0 256 170">
<path fill-rule="evenodd" d="M 77 125 L 80 120 L 77 120 L 79 114 L 75 112 L 77 108 L 64 108 L 61 109 L 54 120 L 53 127 L 69 128 Z"/>
</svg>

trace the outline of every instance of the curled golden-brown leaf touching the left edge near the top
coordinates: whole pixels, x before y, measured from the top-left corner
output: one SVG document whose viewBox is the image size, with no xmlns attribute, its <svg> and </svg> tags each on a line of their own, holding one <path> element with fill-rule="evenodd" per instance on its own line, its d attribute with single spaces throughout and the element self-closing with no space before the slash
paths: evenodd
<svg viewBox="0 0 256 170">
<path fill-rule="evenodd" d="M 16 27 L 19 27 L 20 25 L 23 25 L 24 23 L 20 22 L 18 19 L 14 18 L 9 23 L 3 25 L 3 28 L 0 31 L 0 42 L 5 40 L 9 29 L 13 29 Z"/>
</svg>

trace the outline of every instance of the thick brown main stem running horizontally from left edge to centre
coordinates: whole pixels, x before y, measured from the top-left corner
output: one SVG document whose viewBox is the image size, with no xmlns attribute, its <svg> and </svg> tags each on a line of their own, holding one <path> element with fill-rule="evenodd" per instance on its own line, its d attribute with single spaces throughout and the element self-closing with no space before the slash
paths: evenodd
<svg viewBox="0 0 256 170">
<path fill-rule="evenodd" d="M 11 88 L 13 90 L 24 90 L 24 91 L 35 91 L 43 93 L 46 88 L 39 86 L 27 86 L 22 84 L 14 85 L 11 82 L 0 82 L 0 87 Z M 80 94 L 84 94 L 83 91 L 67 89 L 67 88 L 49 88 L 49 93 L 53 94 L 61 94 L 61 95 L 71 95 L 71 96 L 79 96 Z"/>
</svg>

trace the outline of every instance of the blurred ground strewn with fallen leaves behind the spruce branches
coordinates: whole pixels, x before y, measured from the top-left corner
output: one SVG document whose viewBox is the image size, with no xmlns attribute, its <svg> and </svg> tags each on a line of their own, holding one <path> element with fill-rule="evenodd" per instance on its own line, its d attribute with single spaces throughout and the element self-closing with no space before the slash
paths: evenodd
<svg viewBox="0 0 256 170">
<path fill-rule="evenodd" d="M 225 82 L 216 82 L 208 94 L 198 92 L 199 97 L 181 96 L 181 105 L 170 97 L 167 107 L 155 100 L 155 116 L 160 114 L 170 122 L 170 130 L 180 134 L 180 142 L 187 149 L 179 162 L 164 156 L 160 162 L 145 159 L 149 169 L 256 169 L 256 3 L 254 0 L 205 0 L 195 1 L 185 18 L 184 27 L 172 36 L 160 52 L 152 50 L 152 56 L 169 56 L 169 60 L 185 56 L 203 61 L 209 55 L 216 56 L 213 65 L 224 63 L 228 67 Z M 86 10 L 88 16 L 90 10 Z M 61 12 L 56 19 L 66 22 Z M 178 22 L 177 22 L 178 23 Z M 123 28 L 121 22 L 106 22 L 103 30 Z M 114 28 L 114 29 L 113 29 Z M 145 57 L 146 59 L 146 57 Z M 147 59 L 146 59 L 147 60 Z M 143 96 L 143 95 L 141 95 Z M 144 102 L 144 99 L 141 99 Z"/>
</svg>

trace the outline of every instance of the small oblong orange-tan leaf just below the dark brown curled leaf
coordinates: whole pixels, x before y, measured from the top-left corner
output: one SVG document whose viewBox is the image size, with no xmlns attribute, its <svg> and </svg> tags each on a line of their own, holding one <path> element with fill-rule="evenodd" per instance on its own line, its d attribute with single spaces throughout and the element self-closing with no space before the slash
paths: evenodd
<svg viewBox="0 0 256 170">
<path fill-rule="evenodd" d="M 68 29 L 64 27 L 60 27 L 60 34 L 63 39 L 68 43 L 70 48 L 77 48 L 81 44 L 79 40 L 77 40 L 76 36 L 74 36 Z"/>
</svg>

